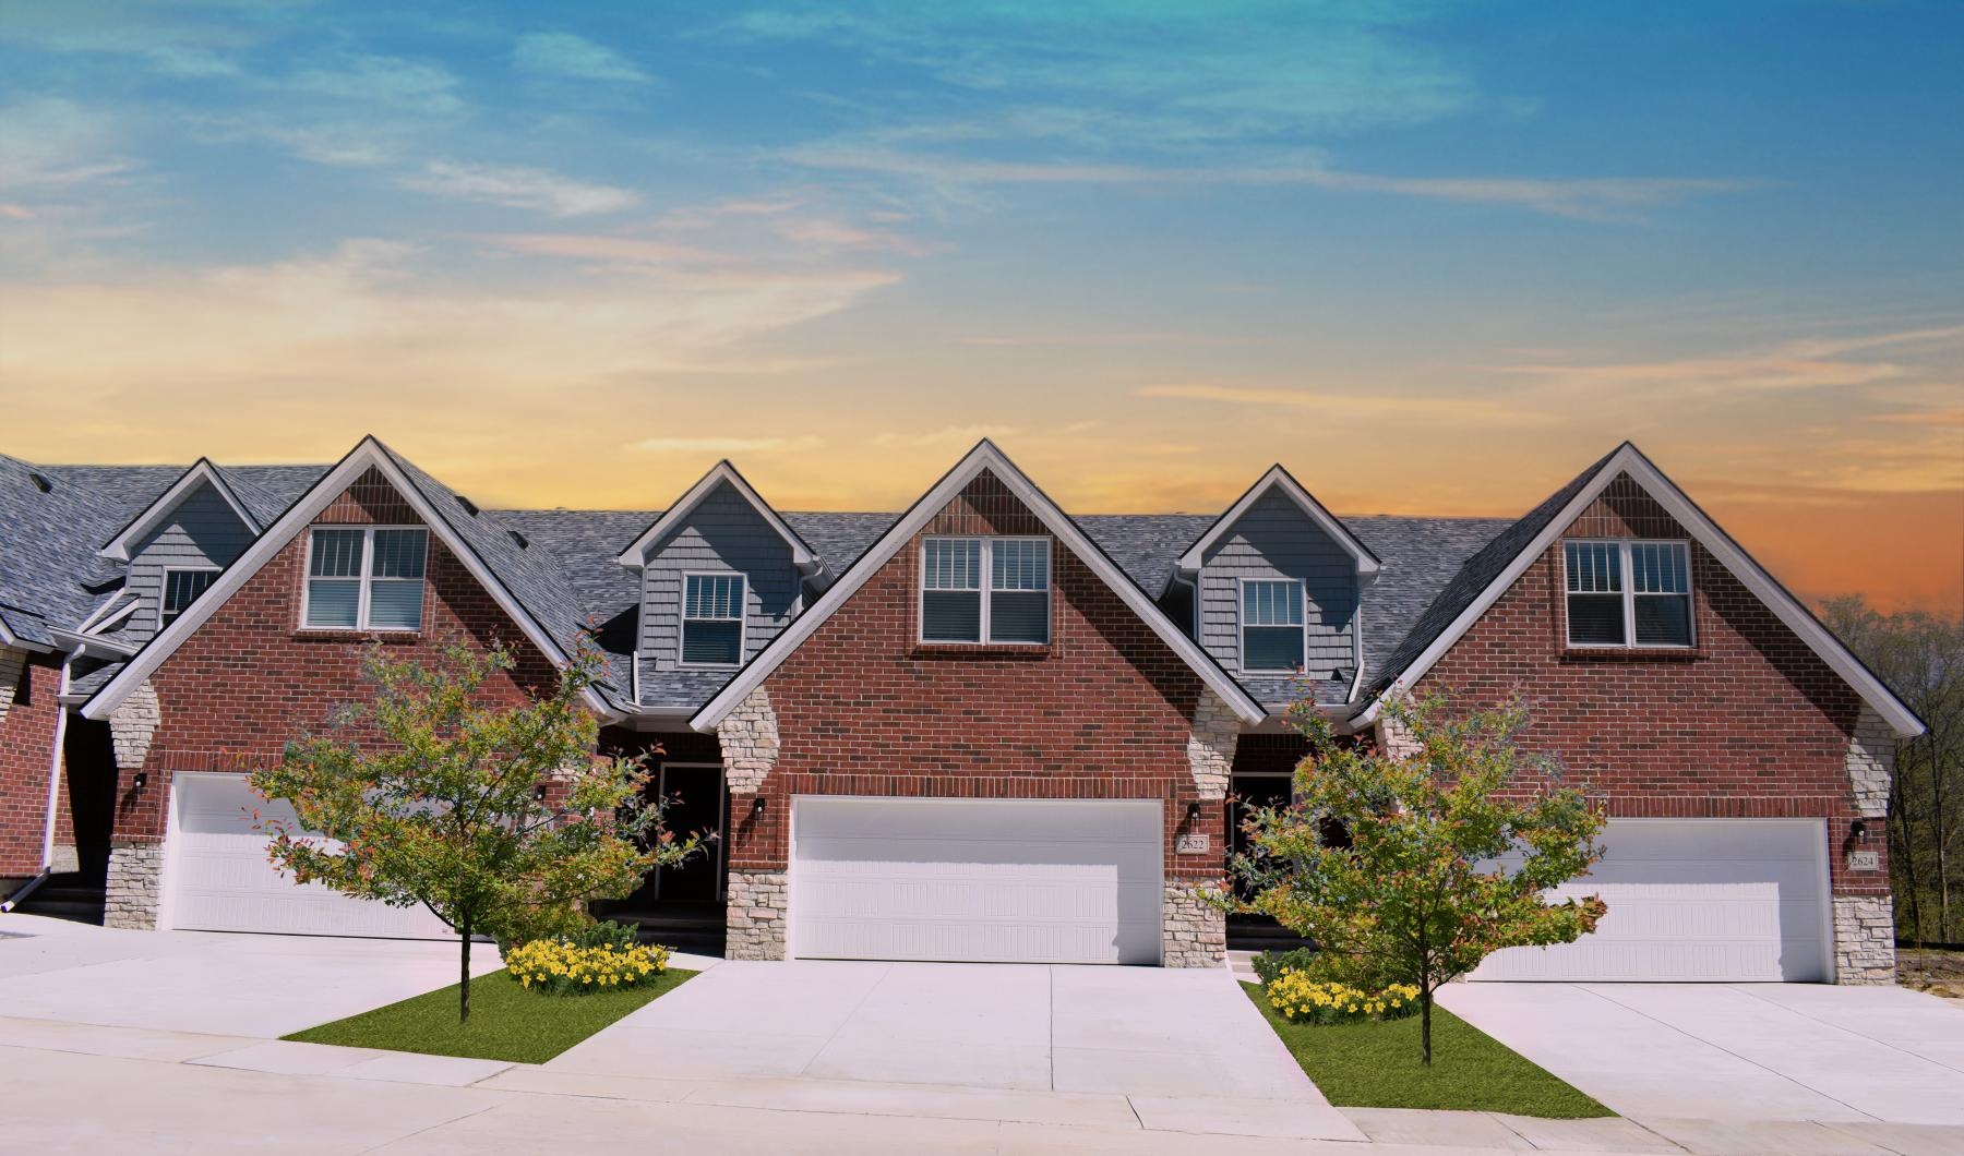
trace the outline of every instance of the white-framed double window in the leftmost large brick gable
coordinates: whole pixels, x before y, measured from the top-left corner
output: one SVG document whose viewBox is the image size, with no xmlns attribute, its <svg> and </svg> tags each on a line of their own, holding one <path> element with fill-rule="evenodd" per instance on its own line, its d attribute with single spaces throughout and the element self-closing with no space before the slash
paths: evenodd
<svg viewBox="0 0 1964 1156">
<path fill-rule="evenodd" d="M 316 526 L 306 550 L 306 608 L 316 630 L 416 630 L 428 530 Z"/>
</svg>

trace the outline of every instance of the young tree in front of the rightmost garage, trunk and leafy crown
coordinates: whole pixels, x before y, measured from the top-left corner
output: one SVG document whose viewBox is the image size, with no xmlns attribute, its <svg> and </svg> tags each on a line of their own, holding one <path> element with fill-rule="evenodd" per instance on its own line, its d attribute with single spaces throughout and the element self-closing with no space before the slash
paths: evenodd
<svg viewBox="0 0 1964 1156">
<path fill-rule="evenodd" d="M 1312 709 L 1290 807 L 1253 811 L 1235 871 L 1247 909 L 1275 917 L 1353 972 L 1418 987 L 1432 1064 L 1432 993 L 1500 948 L 1565 944 L 1595 928 L 1599 897 L 1548 889 L 1601 858 L 1605 816 L 1514 738 L 1520 705 L 1449 716 L 1438 701 L 1387 707 L 1394 750 L 1339 742 Z"/>
</svg>

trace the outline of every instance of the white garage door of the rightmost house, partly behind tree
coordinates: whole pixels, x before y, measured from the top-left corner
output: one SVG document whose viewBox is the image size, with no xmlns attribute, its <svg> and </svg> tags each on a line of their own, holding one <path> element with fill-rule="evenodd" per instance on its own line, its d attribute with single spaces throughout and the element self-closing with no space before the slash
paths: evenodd
<svg viewBox="0 0 1964 1156">
<path fill-rule="evenodd" d="M 1828 977 L 1819 820 L 1610 820 L 1603 862 L 1557 895 L 1601 895 L 1593 934 L 1510 948 L 1471 979 L 1809 981 Z"/>
</svg>

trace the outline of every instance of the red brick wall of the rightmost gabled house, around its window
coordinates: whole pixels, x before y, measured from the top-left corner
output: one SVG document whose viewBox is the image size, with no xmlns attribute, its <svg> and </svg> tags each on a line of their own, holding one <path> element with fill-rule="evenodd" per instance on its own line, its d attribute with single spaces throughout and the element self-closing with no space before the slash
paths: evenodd
<svg viewBox="0 0 1964 1156">
<path fill-rule="evenodd" d="M 1628 477 L 1573 538 L 1689 538 Z M 1860 699 L 1697 542 L 1689 652 L 1569 650 L 1559 542 L 1418 683 L 1457 703 L 1524 695 L 1526 742 L 1624 818 L 1827 818 L 1834 889 L 1887 893 L 1848 873 L 1856 818 L 1846 773 Z M 1868 848 L 1880 850 L 1872 838 Z"/>
</svg>

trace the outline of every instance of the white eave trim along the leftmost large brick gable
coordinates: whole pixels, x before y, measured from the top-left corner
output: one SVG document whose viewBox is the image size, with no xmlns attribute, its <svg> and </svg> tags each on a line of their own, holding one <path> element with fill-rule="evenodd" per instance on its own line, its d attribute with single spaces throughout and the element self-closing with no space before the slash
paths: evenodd
<svg viewBox="0 0 1964 1156">
<path fill-rule="evenodd" d="M 218 606 L 224 606 L 232 595 L 236 595 L 240 587 L 259 573 L 265 563 L 271 561 L 273 555 L 277 555 L 289 542 L 306 532 L 314 516 L 371 467 L 381 471 L 403 500 L 416 510 L 416 516 L 430 528 L 430 534 L 436 534 L 444 546 L 450 548 L 450 553 L 464 563 L 464 569 L 467 569 L 469 575 L 491 593 L 491 599 L 513 622 L 518 624 L 518 630 L 524 632 L 526 640 L 548 659 L 566 663 L 568 656 L 560 642 L 552 638 L 522 604 L 518 604 L 511 591 L 505 589 L 505 583 L 501 583 L 491 569 L 485 567 L 483 559 L 477 557 L 477 552 L 471 550 L 462 536 L 458 536 L 450 522 L 422 495 L 422 491 L 416 489 L 416 485 L 395 465 L 395 459 L 381 446 L 381 442 L 369 436 L 350 449 L 348 457 L 342 457 L 340 463 L 322 475 L 320 481 L 316 481 L 304 495 L 300 495 L 300 499 L 279 516 L 279 520 L 267 526 L 265 532 L 246 548 L 246 553 L 242 553 L 222 575 L 218 575 L 218 581 L 214 581 L 208 591 L 198 595 L 198 599 L 169 626 L 157 632 L 157 636 L 151 638 L 149 644 L 145 644 L 143 650 L 139 650 L 136 657 L 108 681 L 108 685 L 96 691 L 94 697 L 82 707 L 82 716 L 96 720 L 108 718 L 110 712 L 136 687 L 143 685 L 143 679 L 155 673 L 155 669 L 163 665 L 163 661 L 171 657 L 171 654 L 175 654 L 192 632 L 198 630 L 198 626 L 204 626 L 204 620 L 210 618 Z M 297 606 L 295 612 L 299 612 Z M 585 699 L 587 707 L 603 718 L 621 716 L 621 710 L 607 705 L 595 687 L 587 687 Z"/>
</svg>

